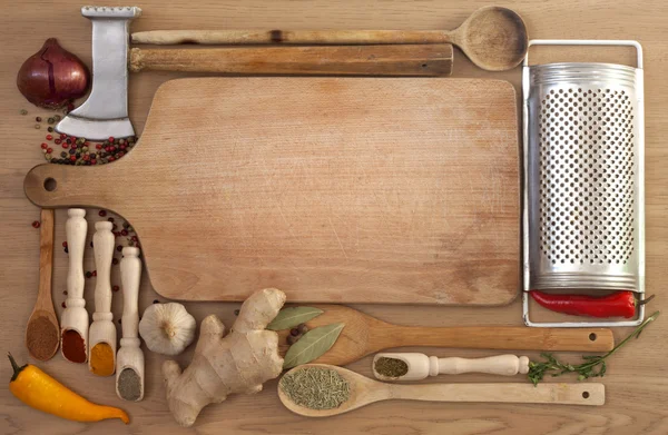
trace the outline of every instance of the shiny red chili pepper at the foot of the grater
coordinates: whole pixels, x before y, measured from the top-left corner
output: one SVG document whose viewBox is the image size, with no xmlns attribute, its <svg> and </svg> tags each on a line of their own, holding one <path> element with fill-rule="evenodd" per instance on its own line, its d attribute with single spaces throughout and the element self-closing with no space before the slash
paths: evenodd
<svg viewBox="0 0 668 435">
<path fill-rule="evenodd" d="M 626 317 L 636 315 L 636 306 L 647 304 L 654 296 L 645 300 L 636 299 L 633 291 L 616 291 L 603 297 L 586 295 L 551 295 L 531 290 L 533 299 L 549 310 L 590 317 Z"/>
</svg>

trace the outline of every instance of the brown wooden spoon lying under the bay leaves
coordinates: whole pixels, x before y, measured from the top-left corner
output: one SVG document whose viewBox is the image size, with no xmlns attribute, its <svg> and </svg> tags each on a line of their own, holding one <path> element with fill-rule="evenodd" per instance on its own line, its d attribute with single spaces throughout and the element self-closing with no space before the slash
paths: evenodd
<svg viewBox="0 0 668 435">
<path fill-rule="evenodd" d="M 615 337 L 605 328 L 528 328 L 525 326 L 421 327 L 392 325 L 343 305 L 313 305 L 325 313 L 306 323 L 310 329 L 345 324 L 338 339 L 314 363 L 343 366 L 369 354 L 401 346 L 459 347 L 502 350 L 607 352 Z M 278 333 L 287 352 L 288 330 Z"/>
</svg>

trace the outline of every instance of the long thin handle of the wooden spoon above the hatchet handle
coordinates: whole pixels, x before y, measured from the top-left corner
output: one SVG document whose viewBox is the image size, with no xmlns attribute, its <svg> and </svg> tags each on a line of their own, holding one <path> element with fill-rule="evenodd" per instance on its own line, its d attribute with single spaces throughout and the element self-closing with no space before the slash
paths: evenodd
<svg viewBox="0 0 668 435">
<path fill-rule="evenodd" d="M 400 45 L 452 42 L 443 30 L 150 30 L 132 33 L 134 43 L 154 45 Z"/>
</svg>

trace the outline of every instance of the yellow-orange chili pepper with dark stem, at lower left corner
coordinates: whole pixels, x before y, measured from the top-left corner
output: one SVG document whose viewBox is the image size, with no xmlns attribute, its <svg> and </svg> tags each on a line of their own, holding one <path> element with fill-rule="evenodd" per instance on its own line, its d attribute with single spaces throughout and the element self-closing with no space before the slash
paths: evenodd
<svg viewBox="0 0 668 435">
<path fill-rule="evenodd" d="M 14 370 L 9 390 L 26 405 L 75 422 L 107 418 L 120 418 L 125 424 L 130 422 L 125 411 L 88 402 L 33 365 L 19 367 L 11 354 L 9 360 Z"/>
</svg>

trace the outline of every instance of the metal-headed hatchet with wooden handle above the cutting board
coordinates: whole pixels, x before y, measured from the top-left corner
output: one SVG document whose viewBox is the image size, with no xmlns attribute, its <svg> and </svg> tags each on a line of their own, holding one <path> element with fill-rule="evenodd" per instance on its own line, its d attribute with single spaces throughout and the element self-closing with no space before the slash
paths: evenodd
<svg viewBox="0 0 668 435">
<path fill-rule="evenodd" d="M 92 89 L 56 130 L 101 140 L 135 135 L 128 118 L 128 70 L 225 75 L 449 76 L 452 46 L 256 47 L 140 49 L 129 47 L 137 7 L 84 7 L 92 22 Z"/>
</svg>

